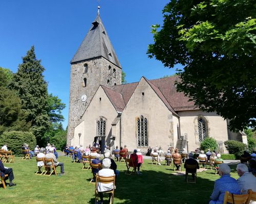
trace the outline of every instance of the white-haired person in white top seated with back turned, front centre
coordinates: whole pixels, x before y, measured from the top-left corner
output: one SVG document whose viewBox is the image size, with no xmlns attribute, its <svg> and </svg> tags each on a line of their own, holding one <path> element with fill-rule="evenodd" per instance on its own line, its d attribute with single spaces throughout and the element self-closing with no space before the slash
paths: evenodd
<svg viewBox="0 0 256 204">
<path fill-rule="evenodd" d="M 105 176 L 105 177 L 115 175 L 114 171 L 112 169 L 110 169 L 110 166 L 111 166 L 111 161 L 107 158 L 103 159 L 102 160 L 102 169 L 99 170 L 98 175 Z M 100 196 L 100 202 L 98 202 L 98 203 L 103 203 L 103 193 L 102 192 L 110 191 L 113 188 L 115 188 L 113 183 L 110 183 L 110 184 L 98 183 L 97 190 L 98 190 L 99 196 Z M 110 198 L 111 198 L 111 194 L 109 197 L 109 201 L 110 201 Z"/>
</svg>

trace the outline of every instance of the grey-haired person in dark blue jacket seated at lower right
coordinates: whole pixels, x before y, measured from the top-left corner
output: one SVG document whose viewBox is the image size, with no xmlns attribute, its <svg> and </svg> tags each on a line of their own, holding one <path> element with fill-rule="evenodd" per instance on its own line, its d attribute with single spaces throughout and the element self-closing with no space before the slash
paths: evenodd
<svg viewBox="0 0 256 204">
<path fill-rule="evenodd" d="M 220 164 L 219 175 L 221 178 L 215 181 L 209 204 L 222 204 L 226 191 L 233 194 L 241 194 L 241 188 L 237 180 L 230 177 L 230 171 L 227 164 Z"/>
</svg>

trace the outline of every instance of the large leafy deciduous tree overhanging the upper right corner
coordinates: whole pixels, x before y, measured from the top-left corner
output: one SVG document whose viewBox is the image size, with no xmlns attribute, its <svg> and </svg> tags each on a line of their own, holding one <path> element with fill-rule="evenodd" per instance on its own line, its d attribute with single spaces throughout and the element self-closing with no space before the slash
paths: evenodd
<svg viewBox="0 0 256 204">
<path fill-rule="evenodd" d="M 171 0 L 148 45 L 150 58 L 184 66 L 177 90 L 233 131 L 256 126 L 255 13 L 252 0 Z"/>
</svg>

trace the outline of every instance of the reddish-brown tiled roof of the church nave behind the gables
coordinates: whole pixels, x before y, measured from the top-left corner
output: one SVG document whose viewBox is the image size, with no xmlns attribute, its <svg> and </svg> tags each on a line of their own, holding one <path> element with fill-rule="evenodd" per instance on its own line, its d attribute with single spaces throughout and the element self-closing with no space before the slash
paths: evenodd
<svg viewBox="0 0 256 204">
<path fill-rule="evenodd" d="M 189 101 L 189 97 L 184 93 L 176 90 L 175 82 L 180 80 L 178 76 L 161 78 L 155 80 L 147 80 L 144 78 L 152 89 L 156 92 L 165 106 L 173 113 L 177 111 L 199 110 L 193 101 Z M 116 85 L 110 87 L 113 91 L 122 95 L 125 105 L 131 98 L 134 90 L 139 82 L 131 84 Z M 176 114 L 176 113 L 175 113 Z"/>
</svg>

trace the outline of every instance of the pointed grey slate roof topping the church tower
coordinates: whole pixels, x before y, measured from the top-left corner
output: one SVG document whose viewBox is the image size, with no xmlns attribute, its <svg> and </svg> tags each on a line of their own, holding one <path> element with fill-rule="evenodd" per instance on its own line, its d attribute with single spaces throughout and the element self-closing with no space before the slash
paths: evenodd
<svg viewBox="0 0 256 204">
<path fill-rule="evenodd" d="M 92 22 L 89 32 L 86 37 L 84 37 L 76 54 L 71 60 L 71 63 L 101 56 L 121 68 L 115 50 L 98 13 L 96 19 Z"/>
</svg>

